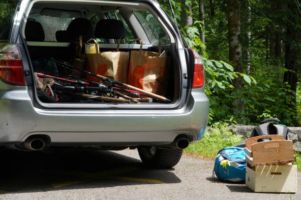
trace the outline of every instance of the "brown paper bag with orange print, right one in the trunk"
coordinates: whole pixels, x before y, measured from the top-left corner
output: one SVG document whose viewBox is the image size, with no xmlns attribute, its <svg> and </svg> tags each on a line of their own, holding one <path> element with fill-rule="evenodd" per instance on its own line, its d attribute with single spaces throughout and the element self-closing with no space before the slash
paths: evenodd
<svg viewBox="0 0 301 200">
<path fill-rule="evenodd" d="M 128 70 L 128 84 L 148 92 L 164 96 L 167 92 L 169 72 L 167 57 L 161 55 L 161 41 L 159 52 L 142 50 L 131 51 Z"/>
</svg>

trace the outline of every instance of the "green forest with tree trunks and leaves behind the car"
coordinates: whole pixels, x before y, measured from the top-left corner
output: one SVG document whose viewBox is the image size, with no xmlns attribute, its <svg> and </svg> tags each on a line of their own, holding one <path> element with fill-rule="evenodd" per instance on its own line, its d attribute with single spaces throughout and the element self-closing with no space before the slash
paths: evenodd
<svg viewBox="0 0 301 200">
<path fill-rule="evenodd" d="M 172 17 L 168 0 L 160 5 Z M 301 125 L 299 0 L 171 0 L 187 44 L 202 55 L 209 125 Z M 299 78 L 299 79 L 298 79 Z"/>
</svg>

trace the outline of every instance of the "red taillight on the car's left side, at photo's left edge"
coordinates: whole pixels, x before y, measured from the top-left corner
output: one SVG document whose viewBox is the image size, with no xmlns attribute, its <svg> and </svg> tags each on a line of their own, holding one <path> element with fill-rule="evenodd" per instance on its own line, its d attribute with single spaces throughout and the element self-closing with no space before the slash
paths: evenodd
<svg viewBox="0 0 301 200">
<path fill-rule="evenodd" d="M 21 54 L 16 44 L 0 45 L 0 79 L 11 85 L 26 85 Z"/>
</svg>

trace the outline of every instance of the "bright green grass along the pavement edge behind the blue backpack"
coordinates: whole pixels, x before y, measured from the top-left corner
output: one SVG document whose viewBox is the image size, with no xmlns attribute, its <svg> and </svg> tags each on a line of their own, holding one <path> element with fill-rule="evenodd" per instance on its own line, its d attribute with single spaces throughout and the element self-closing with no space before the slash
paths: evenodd
<svg viewBox="0 0 301 200">
<path fill-rule="evenodd" d="M 229 131 L 227 123 L 214 123 L 208 127 L 200 142 L 190 144 L 184 152 L 196 156 L 214 159 L 217 152 L 225 147 L 231 147 L 242 143 L 243 136 L 235 135 Z M 301 153 L 296 152 L 297 161 L 294 165 L 301 171 Z"/>
</svg>

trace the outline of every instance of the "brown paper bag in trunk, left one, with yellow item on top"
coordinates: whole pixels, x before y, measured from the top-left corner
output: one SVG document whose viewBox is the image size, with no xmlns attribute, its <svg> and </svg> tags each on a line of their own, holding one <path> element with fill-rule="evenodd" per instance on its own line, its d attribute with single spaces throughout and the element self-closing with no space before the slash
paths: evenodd
<svg viewBox="0 0 301 200">
<path fill-rule="evenodd" d="M 99 45 L 94 39 L 96 53 L 87 53 L 87 71 L 97 75 L 103 75 L 114 80 L 126 83 L 128 74 L 129 52 L 119 51 L 120 39 L 116 51 L 99 52 Z M 88 43 L 87 42 L 87 43 Z M 88 80 L 97 81 L 95 77 L 87 77 Z"/>
</svg>

